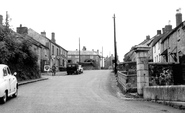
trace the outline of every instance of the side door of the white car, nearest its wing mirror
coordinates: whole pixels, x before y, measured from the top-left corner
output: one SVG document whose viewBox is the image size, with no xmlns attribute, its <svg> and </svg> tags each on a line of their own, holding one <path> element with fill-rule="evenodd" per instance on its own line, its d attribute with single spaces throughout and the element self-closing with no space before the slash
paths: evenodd
<svg viewBox="0 0 185 113">
<path fill-rule="evenodd" d="M 6 67 L 3 68 L 3 78 L 4 78 L 4 82 L 6 84 L 6 88 L 8 89 L 8 93 L 10 93 L 11 92 L 10 77 L 9 77 L 9 74 L 8 74 Z"/>
</svg>

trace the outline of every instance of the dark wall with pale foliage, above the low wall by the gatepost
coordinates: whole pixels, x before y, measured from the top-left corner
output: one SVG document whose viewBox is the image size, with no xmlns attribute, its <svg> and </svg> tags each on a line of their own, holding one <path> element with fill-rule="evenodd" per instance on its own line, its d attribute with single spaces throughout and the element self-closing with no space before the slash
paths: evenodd
<svg viewBox="0 0 185 113">
<path fill-rule="evenodd" d="M 184 85 L 185 66 L 175 63 L 149 63 L 149 85 Z"/>
</svg>

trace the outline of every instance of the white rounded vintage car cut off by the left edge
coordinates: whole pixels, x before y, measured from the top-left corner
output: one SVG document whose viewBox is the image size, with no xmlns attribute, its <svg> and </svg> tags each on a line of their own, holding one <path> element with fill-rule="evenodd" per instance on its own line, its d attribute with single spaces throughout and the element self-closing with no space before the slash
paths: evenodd
<svg viewBox="0 0 185 113">
<path fill-rule="evenodd" d="M 9 67 L 5 64 L 0 64 L 0 102 L 5 103 L 7 98 L 17 97 L 18 95 L 18 82 L 15 77 L 17 73 L 13 75 Z"/>
</svg>

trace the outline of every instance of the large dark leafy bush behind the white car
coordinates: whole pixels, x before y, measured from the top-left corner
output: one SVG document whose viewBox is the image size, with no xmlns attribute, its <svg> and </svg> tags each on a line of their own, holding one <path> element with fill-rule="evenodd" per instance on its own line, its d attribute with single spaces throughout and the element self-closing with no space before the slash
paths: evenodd
<svg viewBox="0 0 185 113">
<path fill-rule="evenodd" d="M 4 36 L 0 37 L 0 64 L 17 72 L 19 81 L 40 78 L 38 57 L 31 50 L 31 43 L 5 31 L 1 31 L 0 36 Z"/>
</svg>

